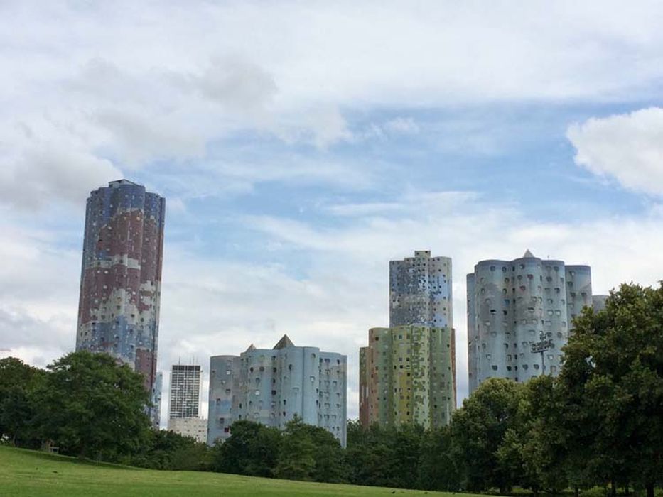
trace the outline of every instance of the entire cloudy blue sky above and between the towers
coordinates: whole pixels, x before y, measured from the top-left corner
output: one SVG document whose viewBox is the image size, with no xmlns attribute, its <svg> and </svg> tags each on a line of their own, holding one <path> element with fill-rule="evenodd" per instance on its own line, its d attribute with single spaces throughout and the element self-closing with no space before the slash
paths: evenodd
<svg viewBox="0 0 663 497">
<path fill-rule="evenodd" d="M 158 369 L 389 322 L 390 260 L 663 279 L 663 3 L 0 0 L 0 357 L 75 346 L 85 198 L 166 197 Z M 207 379 L 207 377 L 205 378 Z M 203 415 L 207 413 L 207 382 Z"/>
</svg>

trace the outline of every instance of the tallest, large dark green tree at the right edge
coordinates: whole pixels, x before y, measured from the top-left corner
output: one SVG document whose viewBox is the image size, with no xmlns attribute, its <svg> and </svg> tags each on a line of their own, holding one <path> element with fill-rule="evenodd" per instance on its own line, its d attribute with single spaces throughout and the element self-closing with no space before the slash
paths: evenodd
<svg viewBox="0 0 663 497">
<path fill-rule="evenodd" d="M 559 383 L 583 476 L 653 497 L 663 479 L 663 285 L 621 285 L 605 310 L 583 310 L 564 354 Z"/>
</svg>

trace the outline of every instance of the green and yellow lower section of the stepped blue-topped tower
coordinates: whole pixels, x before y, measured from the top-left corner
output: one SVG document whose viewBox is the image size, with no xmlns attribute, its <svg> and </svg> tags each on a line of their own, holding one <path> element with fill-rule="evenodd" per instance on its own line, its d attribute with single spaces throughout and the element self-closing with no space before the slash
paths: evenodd
<svg viewBox="0 0 663 497">
<path fill-rule="evenodd" d="M 456 406 L 453 330 L 421 326 L 372 328 L 360 349 L 362 426 L 448 425 Z"/>
</svg>

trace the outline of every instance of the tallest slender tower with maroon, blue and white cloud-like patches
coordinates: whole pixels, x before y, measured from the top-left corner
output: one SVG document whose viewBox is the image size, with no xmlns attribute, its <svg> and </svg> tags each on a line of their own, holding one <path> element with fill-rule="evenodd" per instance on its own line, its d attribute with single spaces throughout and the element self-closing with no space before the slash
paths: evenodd
<svg viewBox="0 0 663 497">
<path fill-rule="evenodd" d="M 106 352 L 155 389 L 166 200 L 128 180 L 90 193 L 76 350 Z M 158 410 L 147 408 L 158 426 Z"/>
</svg>

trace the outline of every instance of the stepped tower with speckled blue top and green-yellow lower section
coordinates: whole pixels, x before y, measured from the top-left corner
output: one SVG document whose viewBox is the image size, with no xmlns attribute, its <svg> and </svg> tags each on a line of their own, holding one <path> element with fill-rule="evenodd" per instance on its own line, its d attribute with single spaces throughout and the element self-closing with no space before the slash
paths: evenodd
<svg viewBox="0 0 663 497">
<path fill-rule="evenodd" d="M 360 349 L 360 422 L 448 425 L 456 408 L 451 258 L 415 251 L 389 263 L 389 328 Z"/>
</svg>

